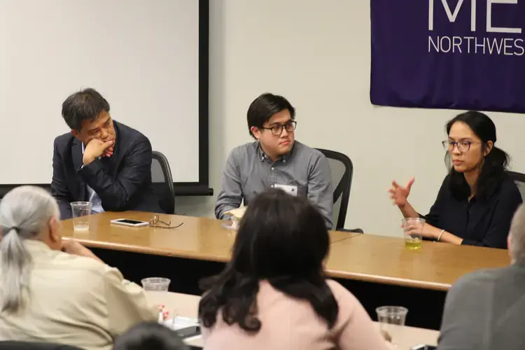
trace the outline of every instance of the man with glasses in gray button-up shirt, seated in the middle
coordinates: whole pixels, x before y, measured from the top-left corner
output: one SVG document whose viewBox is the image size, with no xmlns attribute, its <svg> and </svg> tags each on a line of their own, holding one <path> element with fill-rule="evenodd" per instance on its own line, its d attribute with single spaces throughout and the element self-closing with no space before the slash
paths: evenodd
<svg viewBox="0 0 525 350">
<path fill-rule="evenodd" d="M 323 153 L 295 141 L 295 109 L 284 97 L 262 94 L 248 108 L 248 129 L 256 140 L 234 148 L 223 173 L 215 215 L 248 205 L 267 188 L 307 197 L 332 228 L 333 188 Z"/>
</svg>

